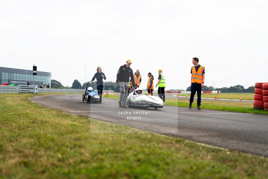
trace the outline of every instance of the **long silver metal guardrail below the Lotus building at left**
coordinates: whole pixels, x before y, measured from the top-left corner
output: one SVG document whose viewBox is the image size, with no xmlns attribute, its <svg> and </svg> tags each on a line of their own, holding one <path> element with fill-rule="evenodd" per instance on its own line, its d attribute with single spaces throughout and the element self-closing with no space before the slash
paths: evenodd
<svg viewBox="0 0 268 179">
<path fill-rule="evenodd" d="M 0 93 L 28 93 L 29 85 L 6 86 L 0 85 Z M 103 92 L 114 92 L 113 90 L 103 90 Z M 52 88 L 37 88 L 37 93 L 84 93 L 85 89 L 52 89 Z M 94 90 L 98 93 L 98 90 Z"/>
</svg>

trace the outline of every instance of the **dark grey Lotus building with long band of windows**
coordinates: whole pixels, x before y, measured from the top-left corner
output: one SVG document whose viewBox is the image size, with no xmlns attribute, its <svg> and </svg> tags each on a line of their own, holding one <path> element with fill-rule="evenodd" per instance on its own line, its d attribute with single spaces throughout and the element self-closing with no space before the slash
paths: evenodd
<svg viewBox="0 0 268 179">
<path fill-rule="evenodd" d="M 37 69 L 38 70 L 38 69 Z M 23 70 L 23 69 L 12 69 L 0 67 L 0 85 L 7 83 L 7 85 L 12 85 L 16 83 L 17 85 L 27 85 L 29 82 L 30 85 L 43 85 L 51 86 L 51 76 L 52 73 L 37 71 L 37 75 L 33 75 L 32 70 Z"/>
</svg>

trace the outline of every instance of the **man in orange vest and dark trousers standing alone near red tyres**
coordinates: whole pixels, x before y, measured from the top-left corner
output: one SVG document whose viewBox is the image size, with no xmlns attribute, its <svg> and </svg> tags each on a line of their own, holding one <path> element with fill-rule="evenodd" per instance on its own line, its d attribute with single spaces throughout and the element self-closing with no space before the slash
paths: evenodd
<svg viewBox="0 0 268 179">
<path fill-rule="evenodd" d="M 198 64 L 198 57 L 193 57 L 192 63 L 194 66 L 191 68 L 191 97 L 189 108 L 192 108 L 193 98 L 197 91 L 197 108 L 201 109 L 201 88 L 204 87 L 205 81 L 205 67 Z"/>
</svg>

